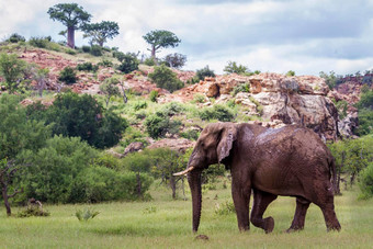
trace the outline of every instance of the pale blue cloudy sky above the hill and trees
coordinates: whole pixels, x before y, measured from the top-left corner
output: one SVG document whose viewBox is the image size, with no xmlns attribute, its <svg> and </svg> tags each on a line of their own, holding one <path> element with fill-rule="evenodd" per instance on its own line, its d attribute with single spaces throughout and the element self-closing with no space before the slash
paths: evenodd
<svg viewBox="0 0 373 249">
<path fill-rule="evenodd" d="M 114 21 L 120 35 L 105 45 L 150 55 L 143 35 L 173 32 L 181 43 L 158 56 L 187 56 L 184 70 L 210 66 L 223 73 L 228 61 L 250 70 L 338 75 L 373 69 L 373 0 L 78 0 L 91 22 Z M 0 39 L 58 35 L 49 19 L 55 0 L 0 0 Z M 76 45 L 88 45 L 77 31 Z"/>
</svg>

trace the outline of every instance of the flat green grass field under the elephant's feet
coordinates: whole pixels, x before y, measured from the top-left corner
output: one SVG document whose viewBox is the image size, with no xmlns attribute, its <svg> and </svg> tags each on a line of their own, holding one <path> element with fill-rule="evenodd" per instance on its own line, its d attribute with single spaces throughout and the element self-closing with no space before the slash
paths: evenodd
<svg viewBox="0 0 373 249">
<path fill-rule="evenodd" d="M 279 197 L 264 214 L 275 220 L 269 235 L 252 225 L 250 231 L 239 233 L 235 214 L 214 212 L 216 203 L 231 200 L 230 188 L 208 191 L 199 230 L 207 241 L 192 233 L 190 200 L 172 201 L 163 186 L 152 189 L 151 195 L 151 202 L 45 206 L 49 217 L 7 217 L 1 207 L 0 248 L 373 248 L 373 200 L 358 201 L 358 190 L 336 197 L 340 233 L 326 233 L 321 211 L 310 205 L 305 229 L 285 234 L 295 199 Z M 75 213 L 86 207 L 100 214 L 79 222 Z"/>
</svg>

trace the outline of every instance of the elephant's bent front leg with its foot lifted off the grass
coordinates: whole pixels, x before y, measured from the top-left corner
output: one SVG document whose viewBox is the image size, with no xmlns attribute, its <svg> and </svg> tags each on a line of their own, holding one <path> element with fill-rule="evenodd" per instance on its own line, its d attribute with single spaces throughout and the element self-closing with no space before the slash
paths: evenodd
<svg viewBox="0 0 373 249">
<path fill-rule="evenodd" d="M 260 227 L 269 234 L 274 228 L 274 220 L 272 217 L 263 218 L 263 214 L 268 205 L 273 202 L 278 195 L 263 192 L 260 190 L 253 190 L 253 204 L 251 211 L 251 223 L 256 227 Z"/>
</svg>

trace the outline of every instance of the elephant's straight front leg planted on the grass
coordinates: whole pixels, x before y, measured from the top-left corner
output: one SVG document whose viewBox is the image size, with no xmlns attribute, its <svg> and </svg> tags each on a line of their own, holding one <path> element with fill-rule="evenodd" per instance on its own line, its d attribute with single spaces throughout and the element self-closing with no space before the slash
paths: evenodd
<svg viewBox="0 0 373 249">
<path fill-rule="evenodd" d="M 231 181 L 231 196 L 236 207 L 237 222 L 239 230 L 248 230 L 250 228 L 250 184 Z"/>
</svg>

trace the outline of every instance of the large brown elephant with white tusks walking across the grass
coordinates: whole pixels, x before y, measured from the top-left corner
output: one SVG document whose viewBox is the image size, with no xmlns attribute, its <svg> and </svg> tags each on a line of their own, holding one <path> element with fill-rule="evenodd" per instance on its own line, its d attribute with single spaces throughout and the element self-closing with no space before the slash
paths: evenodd
<svg viewBox="0 0 373 249">
<path fill-rule="evenodd" d="M 230 169 L 239 230 L 248 230 L 251 220 L 252 225 L 271 233 L 274 219 L 263 218 L 263 213 L 278 195 L 296 197 L 295 215 L 286 231 L 304 228 L 310 203 L 323 211 L 327 230 L 341 229 L 334 204 L 335 160 L 313 131 L 297 125 L 265 128 L 248 123 L 208 124 L 194 146 L 187 169 L 174 173 L 188 177 L 194 233 L 201 219 L 201 173 L 214 163 Z"/>
</svg>

